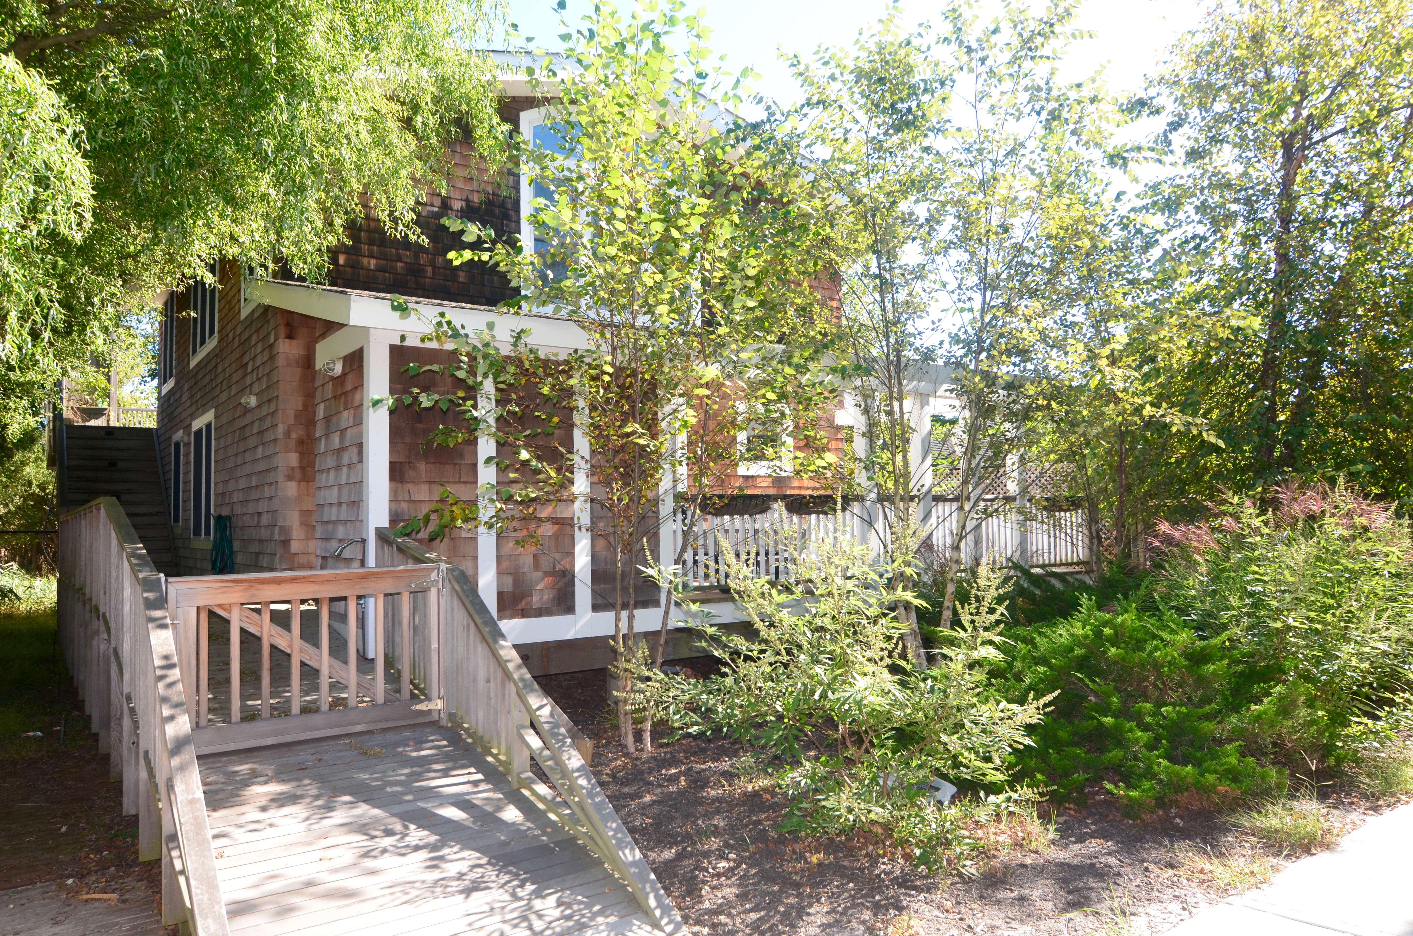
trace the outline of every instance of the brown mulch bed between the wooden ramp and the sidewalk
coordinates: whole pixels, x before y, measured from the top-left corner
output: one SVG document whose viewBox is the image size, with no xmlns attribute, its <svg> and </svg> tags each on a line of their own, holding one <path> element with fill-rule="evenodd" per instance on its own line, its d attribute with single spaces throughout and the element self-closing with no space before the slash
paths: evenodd
<svg viewBox="0 0 1413 936">
<path fill-rule="evenodd" d="M 1210 814 L 1129 821 L 1099 793 L 1056 816 L 1048 847 L 985 858 L 974 877 L 928 875 L 872 837 L 780 833 L 786 802 L 736 769 L 735 742 L 625 755 L 603 670 L 538 681 L 595 739 L 593 773 L 697 935 L 1161 933 L 1224 896 L 1180 874 L 1184 843 L 1229 840 Z"/>
</svg>

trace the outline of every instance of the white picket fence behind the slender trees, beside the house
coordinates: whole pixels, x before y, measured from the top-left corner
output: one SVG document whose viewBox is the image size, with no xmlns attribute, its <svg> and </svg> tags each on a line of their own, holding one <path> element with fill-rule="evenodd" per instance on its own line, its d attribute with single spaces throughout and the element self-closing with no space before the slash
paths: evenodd
<svg viewBox="0 0 1413 936">
<path fill-rule="evenodd" d="M 945 561 L 957 529 L 957 506 L 947 501 L 933 505 L 923 530 L 920 553 L 924 563 L 940 566 Z M 1089 563 L 1088 525 L 1082 510 L 1022 513 L 1012 502 L 996 501 L 988 502 L 981 513 L 962 546 L 964 566 L 988 557 L 1030 568 L 1074 568 Z M 677 520 L 685 523 L 682 515 Z M 844 529 L 858 542 L 873 540 L 875 546 L 879 544 L 876 525 L 869 520 L 866 508 L 851 508 L 842 520 Z M 684 571 L 695 585 L 723 585 L 723 553 L 731 553 L 753 575 L 786 580 L 791 577 L 791 551 L 829 536 L 835 526 L 834 515 L 787 513 L 779 503 L 764 513 L 749 516 L 705 516 L 688 544 Z"/>
</svg>

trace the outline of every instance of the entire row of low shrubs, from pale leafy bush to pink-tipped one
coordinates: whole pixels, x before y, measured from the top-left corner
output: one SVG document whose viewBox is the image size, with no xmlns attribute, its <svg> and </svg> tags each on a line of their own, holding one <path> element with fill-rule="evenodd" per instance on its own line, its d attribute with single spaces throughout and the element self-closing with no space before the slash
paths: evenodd
<svg viewBox="0 0 1413 936">
<path fill-rule="evenodd" d="M 926 625 L 926 601 L 865 550 L 817 544 L 797 557 L 808 598 L 732 570 L 755 636 L 708 629 L 723 673 L 649 691 L 678 730 L 753 747 L 794 795 L 790 827 L 882 826 L 931 867 L 965 862 L 978 820 L 1044 788 L 1104 783 L 1130 816 L 1252 813 L 1334 775 L 1413 789 L 1407 522 L 1342 485 L 1291 486 L 1164 525 L 1153 547 L 1154 571 L 1023 575 L 1009 598 L 982 567 L 958 625 L 924 626 L 938 665 L 918 670 L 896 607 Z M 928 797 L 934 776 L 962 788 L 954 806 Z"/>
</svg>

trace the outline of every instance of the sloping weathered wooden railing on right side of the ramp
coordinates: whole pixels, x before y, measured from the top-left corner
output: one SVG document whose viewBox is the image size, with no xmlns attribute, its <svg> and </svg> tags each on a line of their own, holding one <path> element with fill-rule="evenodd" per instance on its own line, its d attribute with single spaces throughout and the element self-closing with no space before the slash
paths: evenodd
<svg viewBox="0 0 1413 936">
<path fill-rule="evenodd" d="M 685 926 L 677 913 L 677 908 L 673 906 L 663 887 L 657 882 L 653 870 L 647 867 L 647 861 L 639 853 L 633 837 L 623 827 L 623 821 L 617 817 L 617 813 L 613 812 L 613 805 L 609 803 L 603 790 L 599 789 L 598 780 L 579 755 L 568 727 L 561 720 L 558 707 L 544 694 L 544 690 L 534 681 L 534 677 L 530 676 L 530 670 L 520 660 L 520 655 L 516 653 L 514 646 L 500 629 L 496 616 L 490 614 L 486 602 L 482 601 L 480 592 L 472 584 L 466 571 L 449 558 L 424 549 L 407 537 L 394 536 L 389 527 L 377 529 L 377 540 L 380 546 L 393 551 L 394 558 L 400 556 L 413 564 L 441 566 L 451 594 L 455 595 L 456 604 L 475 625 L 473 639 L 479 638 L 480 645 L 489 650 L 493 666 L 487 672 L 473 663 L 469 653 L 471 648 L 459 648 L 466 652 L 465 657 L 454 652 L 445 652 L 444 649 L 441 657 L 442 667 L 455 663 L 475 670 L 475 679 L 469 674 L 442 672 L 441 681 L 444 694 L 447 696 L 448 714 L 454 714 L 472 735 L 492 749 L 497 759 L 502 761 L 502 766 L 506 768 L 512 780 L 517 785 L 523 783 L 521 773 L 524 773 L 524 769 L 520 765 L 526 762 L 528 755 L 534 754 L 536 761 L 545 768 L 545 773 L 554 782 L 569 812 L 578 820 L 574 824 L 565 824 L 622 878 L 643 909 L 651 915 L 664 933 L 682 932 Z M 379 566 L 384 564 L 387 563 L 383 563 L 380 556 Z M 449 633 L 447 622 L 444 622 L 444 648 L 454 645 L 452 642 L 456 639 L 459 639 L 458 635 Z M 497 676 L 499 680 L 496 679 Z M 530 725 L 504 724 L 506 711 L 486 715 L 487 718 L 499 718 L 497 724 L 480 723 L 479 718 L 483 713 L 476 711 L 471 704 L 473 700 L 469 697 L 456 697 L 459 694 L 458 687 L 469 687 L 473 681 L 478 698 L 483 698 L 487 694 L 499 696 L 500 690 L 510 690 L 513 698 L 519 703 L 517 707 L 528 718 Z M 492 686 L 487 687 L 485 683 L 492 683 Z M 543 748 L 534 745 L 531 738 L 521 732 L 523 728 L 526 731 L 533 728 L 534 734 L 543 741 Z"/>
</svg>

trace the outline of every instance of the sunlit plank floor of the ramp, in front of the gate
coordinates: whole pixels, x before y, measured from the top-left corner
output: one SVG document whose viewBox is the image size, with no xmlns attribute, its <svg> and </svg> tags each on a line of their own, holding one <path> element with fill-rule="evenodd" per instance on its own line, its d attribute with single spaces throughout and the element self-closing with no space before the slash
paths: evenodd
<svg viewBox="0 0 1413 936">
<path fill-rule="evenodd" d="M 201 755 L 232 933 L 657 933 L 451 728 Z"/>
</svg>

